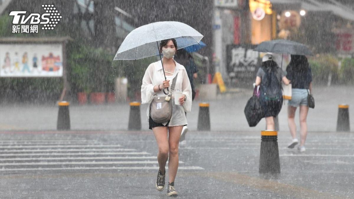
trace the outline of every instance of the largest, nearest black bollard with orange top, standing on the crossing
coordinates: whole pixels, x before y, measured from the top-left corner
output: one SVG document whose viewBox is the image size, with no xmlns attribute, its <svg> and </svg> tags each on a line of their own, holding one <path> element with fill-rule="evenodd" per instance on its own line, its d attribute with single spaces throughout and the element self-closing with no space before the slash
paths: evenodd
<svg viewBox="0 0 354 199">
<path fill-rule="evenodd" d="M 261 131 L 261 153 L 259 155 L 259 173 L 280 173 L 278 150 L 278 131 Z"/>
</svg>

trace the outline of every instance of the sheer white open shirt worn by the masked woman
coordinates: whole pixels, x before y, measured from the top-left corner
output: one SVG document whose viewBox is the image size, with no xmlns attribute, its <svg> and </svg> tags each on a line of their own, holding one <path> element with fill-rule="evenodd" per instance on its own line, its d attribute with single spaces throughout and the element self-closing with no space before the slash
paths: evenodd
<svg viewBox="0 0 354 199">
<path fill-rule="evenodd" d="M 185 112 L 186 113 L 190 112 L 190 109 L 192 108 L 192 87 L 190 86 L 187 71 L 185 70 L 184 66 L 177 63 L 175 60 L 173 61 L 176 64 L 176 68 L 175 68 L 175 72 L 170 77 L 173 79 L 178 73 L 176 85 L 175 85 L 175 91 L 176 90 L 182 91 L 182 93 L 187 97 L 187 100 L 183 103 L 183 106 L 176 105 L 175 102 L 172 101 L 173 104 L 172 118 L 170 120 L 169 126 L 187 125 L 187 118 L 185 116 Z M 170 81 L 170 91 L 171 91 L 172 79 Z M 162 82 L 164 80 L 165 80 L 165 76 L 162 70 L 161 61 L 150 64 L 145 71 L 143 77 L 143 84 L 141 85 L 142 104 L 149 104 L 148 109 L 146 111 L 148 121 L 150 116 L 150 103 L 153 101 L 153 98 L 167 96 L 162 90 L 156 93 L 154 92 L 154 86 L 158 86 L 159 84 L 162 85 Z M 162 124 L 166 125 L 167 122 Z"/>
</svg>

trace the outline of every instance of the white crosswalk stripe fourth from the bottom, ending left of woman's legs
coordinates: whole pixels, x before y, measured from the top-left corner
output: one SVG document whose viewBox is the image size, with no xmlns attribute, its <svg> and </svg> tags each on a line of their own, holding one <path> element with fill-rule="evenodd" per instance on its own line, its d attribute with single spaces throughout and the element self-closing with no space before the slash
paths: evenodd
<svg viewBox="0 0 354 199">
<path fill-rule="evenodd" d="M 147 155 L 150 153 L 147 152 L 106 152 L 106 153 L 99 153 L 99 152 L 85 152 L 85 153 L 8 153 L 8 154 L 0 154 L 1 156 L 37 156 L 37 155 Z"/>
</svg>

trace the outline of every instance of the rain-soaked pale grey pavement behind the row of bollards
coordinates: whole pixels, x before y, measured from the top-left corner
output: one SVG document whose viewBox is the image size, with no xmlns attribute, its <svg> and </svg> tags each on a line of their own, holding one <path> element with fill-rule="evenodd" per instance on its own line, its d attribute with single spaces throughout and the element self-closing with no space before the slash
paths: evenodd
<svg viewBox="0 0 354 199">
<path fill-rule="evenodd" d="M 247 100 L 252 96 L 252 89 L 236 89 L 237 92 L 218 96 L 210 103 L 211 130 L 252 132 L 264 130 L 265 120 L 250 128 L 244 114 Z M 314 88 L 315 109 L 308 114 L 308 130 L 317 132 L 335 132 L 337 125 L 338 104 L 349 104 L 349 118 L 354 132 L 354 87 L 332 86 Z M 194 101 L 192 112 L 187 114 L 189 129 L 197 130 L 198 103 Z M 72 103 L 69 107 L 72 130 L 127 130 L 130 107 L 128 103 L 85 105 Z M 149 130 L 146 118 L 147 105 L 140 108 L 142 130 Z M 0 130 L 56 130 L 58 107 L 55 104 L 1 104 Z M 287 102 L 278 115 L 279 127 L 288 131 Z M 298 110 L 296 124 L 299 128 Z"/>
</svg>

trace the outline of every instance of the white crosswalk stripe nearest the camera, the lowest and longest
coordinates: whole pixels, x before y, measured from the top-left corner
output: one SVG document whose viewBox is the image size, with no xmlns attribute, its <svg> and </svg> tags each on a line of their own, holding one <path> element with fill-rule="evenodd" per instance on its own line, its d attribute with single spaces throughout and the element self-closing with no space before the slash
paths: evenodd
<svg viewBox="0 0 354 199">
<path fill-rule="evenodd" d="M 44 171 L 44 170 L 158 170 L 158 166 L 133 166 L 133 167 L 57 167 L 57 168 L 18 168 L 0 169 L 0 171 Z M 166 170 L 168 168 L 166 167 Z M 199 166 L 179 166 L 178 170 L 204 170 Z"/>
</svg>

